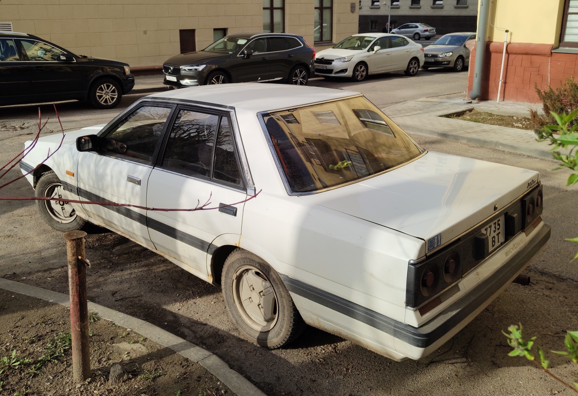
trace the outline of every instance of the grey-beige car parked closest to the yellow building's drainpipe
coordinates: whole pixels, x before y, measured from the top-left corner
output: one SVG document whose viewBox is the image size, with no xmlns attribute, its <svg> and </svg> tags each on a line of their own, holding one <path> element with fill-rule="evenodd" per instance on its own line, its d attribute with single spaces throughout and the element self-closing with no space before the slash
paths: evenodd
<svg viewBox="0 0 578 396">
<path fill-rule="evenodd" d="M 470 51 L 466 48 L 466 41 L 475 39 L 475 32 L 450 33 L 440 37 L 424 48 L 425 63 L 422 68 L 427 70 L 441 66 L 461 72 L 469 66 Z"/>
</svg>

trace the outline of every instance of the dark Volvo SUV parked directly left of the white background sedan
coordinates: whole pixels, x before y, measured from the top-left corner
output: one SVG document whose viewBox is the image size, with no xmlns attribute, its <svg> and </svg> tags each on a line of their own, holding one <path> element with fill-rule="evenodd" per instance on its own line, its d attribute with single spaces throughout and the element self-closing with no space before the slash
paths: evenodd
<svg viewBox="0 0 578 396">
<path fill-rule="evenodd" d="M 235 33 L 202 51 L 176 55 L 162 70 L 166 85 L 281 81 L 306 85 L 314 72 L 315 51 L 301 36 L 283 33 Z"/>
</svg>

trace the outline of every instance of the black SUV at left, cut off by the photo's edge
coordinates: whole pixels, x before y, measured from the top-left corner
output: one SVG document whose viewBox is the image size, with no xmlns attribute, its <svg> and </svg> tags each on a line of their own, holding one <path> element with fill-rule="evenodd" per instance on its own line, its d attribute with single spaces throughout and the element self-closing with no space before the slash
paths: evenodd
<svg viewBox="0 0 578 396">
<path fill-rule="evenodd" d="M 0 32 L 0 105 L 78 99 L 112 109 L 134 85 L 127 63 L 75 55 L 26 33 Z"/>
</svg>

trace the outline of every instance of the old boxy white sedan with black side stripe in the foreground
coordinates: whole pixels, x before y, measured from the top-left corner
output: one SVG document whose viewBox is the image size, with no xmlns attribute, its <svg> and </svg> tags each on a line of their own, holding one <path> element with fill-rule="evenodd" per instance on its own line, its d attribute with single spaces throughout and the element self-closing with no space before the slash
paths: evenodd
<svg viewBox="0 0 578 396">
<path fill-rule="evenodd" d="M 220 283 L 240 332 L 268 348 L 306 323 L 395 360 L 427 356 L 550 237 L 536 171 L 428 152 L 358 92 L 162 92 L 55 152 L 61 139 L 20 162 L 54 199 L 40 215 L 105 226 Z"/>
</svg>

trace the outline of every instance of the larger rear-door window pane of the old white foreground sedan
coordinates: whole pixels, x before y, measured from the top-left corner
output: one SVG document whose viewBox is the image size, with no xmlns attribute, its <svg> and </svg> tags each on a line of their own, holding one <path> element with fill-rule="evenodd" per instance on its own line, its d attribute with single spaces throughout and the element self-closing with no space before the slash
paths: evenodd
<svg viewBox="0 0 578 396">
<path fill-rule="evenodd" d="M 218 121 L 218 115 L 180 110 L 166 143 L 162 166 L 210 177 Z"/>
</svg>

